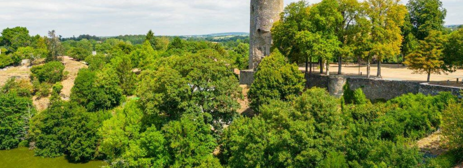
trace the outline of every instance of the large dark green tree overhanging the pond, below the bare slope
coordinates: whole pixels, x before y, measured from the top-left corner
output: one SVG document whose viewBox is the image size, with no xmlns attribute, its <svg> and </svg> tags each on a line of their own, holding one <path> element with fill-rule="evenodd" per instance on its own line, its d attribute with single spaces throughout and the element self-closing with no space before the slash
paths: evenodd
<svg viewBox="0 0 463 168">
<path fill-rule="evenodd" d="M 32 139 L 38 156 L 67 155 L 72 162 L 86 162 L 95 158 L 100 121 L 96 114 L 74 102 L 53 102 L 40 113 L 32 128 Z"/>
</svg>

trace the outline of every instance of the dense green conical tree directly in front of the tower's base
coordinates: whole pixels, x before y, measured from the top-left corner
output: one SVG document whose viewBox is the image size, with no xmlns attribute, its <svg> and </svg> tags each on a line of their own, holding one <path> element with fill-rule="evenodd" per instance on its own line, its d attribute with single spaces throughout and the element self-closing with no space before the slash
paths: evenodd
<svg viewBox="0 0 463 168">
<path fill-rule="evenodd" d="M 257 67 L 248 96 L 250 106 L 258 109 L 272 99 L 290 101 L 304 89 L 304 74 L 289 64 L 278 51 L 265 57 Z"/>
</svg>

